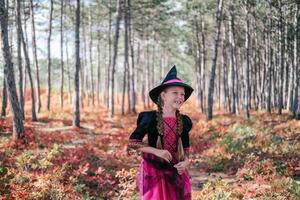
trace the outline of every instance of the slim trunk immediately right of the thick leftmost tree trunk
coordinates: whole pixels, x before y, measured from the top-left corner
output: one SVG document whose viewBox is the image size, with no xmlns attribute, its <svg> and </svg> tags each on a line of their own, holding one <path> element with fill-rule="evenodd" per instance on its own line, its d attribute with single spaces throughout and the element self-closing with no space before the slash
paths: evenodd
<svg viewBox="0 0 300 200">
<path fill-rule="evenodd" d="M 21 25 L 21 11 L 20 11 L 20 1 L 15 1 L 16 5 L 16 25 L 17 25 L 17 60 L 19 69 L 19 104 L 22 112 L 23 119 L 25 119 L 24 114 L 24 93 L 23 93 L 23 67 L 22 67 L 22 25 Z M 26 74 L 26 73 L 24 73 Z M 25 76 L 26 77 L 26 76 Z"/>
</svg>

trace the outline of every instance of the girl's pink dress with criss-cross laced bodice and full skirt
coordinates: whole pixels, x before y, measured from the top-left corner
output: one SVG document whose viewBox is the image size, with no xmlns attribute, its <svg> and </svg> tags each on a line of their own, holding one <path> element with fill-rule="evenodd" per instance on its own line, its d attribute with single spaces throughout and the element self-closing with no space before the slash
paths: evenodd
<svg viewBox="0 0 300 200">
<path fill-rule="evenodd" d="M 167 163 L 153 154 L 143 153 L 137 174 L 137 187 L 142 200 L 190 200 L 191 184 L 188 171 L 177 173 L 175 164 L 178 136 L 176 118 L 164 117 L 163 147 L 172 155 Z"/>
</svg>

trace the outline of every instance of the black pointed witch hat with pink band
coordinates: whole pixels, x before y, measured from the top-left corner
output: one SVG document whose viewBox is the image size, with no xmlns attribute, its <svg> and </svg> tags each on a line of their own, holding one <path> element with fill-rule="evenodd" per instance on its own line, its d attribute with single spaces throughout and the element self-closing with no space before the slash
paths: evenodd
<svg viewBox="0 0 300 200">
<path fill-rule="evenodd" d="M 158 97 L 159 97 L 160 93 L 164 89 L 166 89 L 167 87 L 170 87 L 170 86 L 181 86 L 181 87 L 183 87 L 184 90 L 185 90 L 185 95 L 184 95 L 185 101 L 191 96 L 192 92 L 194 91 L 194 89 L 191 86 L 189 86 L 186 83 L 183 83 L 182 80 L 177 78 L 177 70 L 176 70 L 176 66 L 174 65 L 170 69 L 168 74 L 166 75 L 163 82 L 159 86 L 153 88 L 149 92 L 149 96 L 150 96 L 151 100 L 154 103 L 157 103 L 157 100 L 158 100 Z"/>
</svg>

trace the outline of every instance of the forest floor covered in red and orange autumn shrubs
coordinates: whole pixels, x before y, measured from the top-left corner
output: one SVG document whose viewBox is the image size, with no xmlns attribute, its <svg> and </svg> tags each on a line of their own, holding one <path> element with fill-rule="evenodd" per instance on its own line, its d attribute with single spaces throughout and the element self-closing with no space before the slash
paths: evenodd
<svg viewBox="0 0 300 200">
<path fill-rule="evenodd" d="M 139 109 L 142 110 L 142 109 Z M 188 103 L 193 199 L 300 199 L 300 122 L 288 114 L 253 111 L 250 120 L 215 111 L 214 119 Z M 0 199 L 137 199 L 139 158 L 128 155 L 137 115 L 107 117 L 105 108 L 57 106 L 11 141 L 11 117 L 0 120 Z"/>
</svg>

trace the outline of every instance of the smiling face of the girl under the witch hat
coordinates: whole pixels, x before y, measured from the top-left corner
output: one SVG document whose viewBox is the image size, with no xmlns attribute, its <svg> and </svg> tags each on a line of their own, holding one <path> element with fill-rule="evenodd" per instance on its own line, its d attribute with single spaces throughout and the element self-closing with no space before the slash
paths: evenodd
<svg viewBox="0 0 300 200">
<path fill-rule="evenodd" d="M 164 106 L 178 110 L 184 102 L 184 88 L 180 86 L 171 86 L 161 93 Z"/>
</svg>

